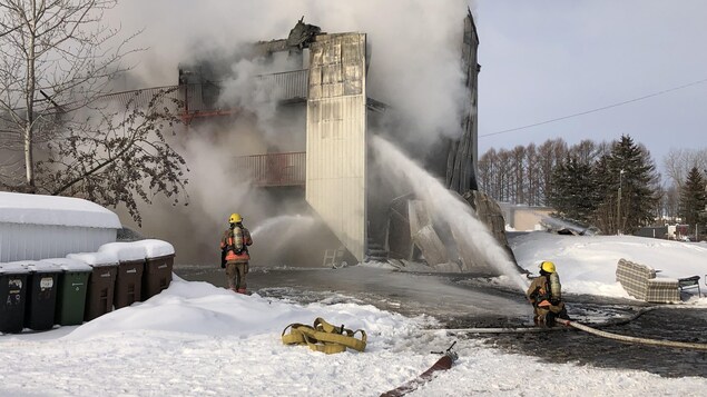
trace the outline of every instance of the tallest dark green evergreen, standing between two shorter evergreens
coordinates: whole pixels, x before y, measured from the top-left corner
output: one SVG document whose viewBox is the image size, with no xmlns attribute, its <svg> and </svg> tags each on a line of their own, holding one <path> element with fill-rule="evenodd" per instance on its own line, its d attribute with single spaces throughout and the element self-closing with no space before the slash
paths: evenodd
<svg viewBox="0 0 707 397">
<path fill-rule="evenodd" d="M 652 224 L 660 202 L 660 177 L 648 150 L 628 135 L 621 136 L 611 147 L 603 172 L 605 205 L 616 198 L 613 230 L 630 235 Z"/>
</svg>

